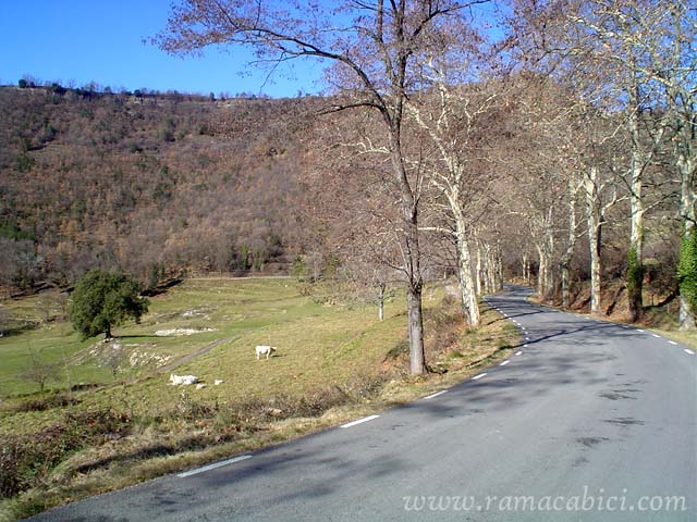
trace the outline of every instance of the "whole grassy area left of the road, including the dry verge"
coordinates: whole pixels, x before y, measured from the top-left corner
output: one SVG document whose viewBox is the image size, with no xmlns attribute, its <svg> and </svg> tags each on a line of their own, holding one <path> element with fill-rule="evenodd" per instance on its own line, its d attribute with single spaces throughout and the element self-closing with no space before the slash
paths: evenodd
<svg viewBox="0 0 697 522">
<path fill-rule="evenodd" d="M 380 322 L 374 307 L 302 296 L 294 279 L 189 279 L 152 298 L 140 324 L 114 328 L 126 352 L 115 378 L 95 355 L 100 339 L 81 341 L 72 332 L 60 296 L 3 302 L 5 320 L 38 326 L 13 326 L 0 338 L 0 445 L 11 448 L 0 455 L 0 474 L 15 480 L 0 480 L 0 489 L 20 492 L 4 495 L 0 521 L 414 400 L 517 343 L 515 327 L 494 311 L 484 308 L 482 326 L 467 330 L 453 299 L 440 288 L 426 295 L 427 360 L 436 373 L 418 378 L 406 373 L 400 297 Z M 36 300 L 48 297 L 57 304 L 47 322 Z M 178 328 L 199 333 L 156 334 Z M 257 361 L 257 344 L 278 352 Z M 30 352 L 59 366 L 50 391 L 19 377 Z M 145 362 L 132 365 L 134 353 Z M 170 373 L 207 386 L 171 386 Z M 68 391 L 76 383 L 98 386 Z"/>
</svg>

